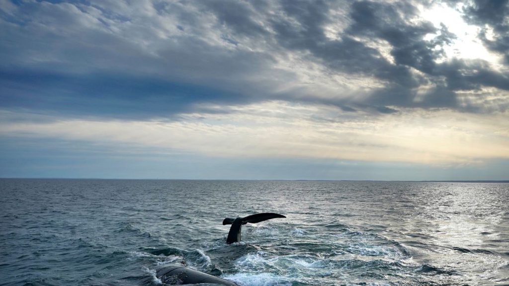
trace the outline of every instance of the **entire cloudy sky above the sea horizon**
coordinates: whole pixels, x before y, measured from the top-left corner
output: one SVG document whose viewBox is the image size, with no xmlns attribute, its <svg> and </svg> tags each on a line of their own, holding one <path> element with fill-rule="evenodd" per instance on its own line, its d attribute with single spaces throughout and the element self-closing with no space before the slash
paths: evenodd
<svg viewBox="0 0 509 286">
<path fill-rule="evenodd" d="M 509 3 L 0 0 L 0 177 L 509 180 Z"/>
</svg>

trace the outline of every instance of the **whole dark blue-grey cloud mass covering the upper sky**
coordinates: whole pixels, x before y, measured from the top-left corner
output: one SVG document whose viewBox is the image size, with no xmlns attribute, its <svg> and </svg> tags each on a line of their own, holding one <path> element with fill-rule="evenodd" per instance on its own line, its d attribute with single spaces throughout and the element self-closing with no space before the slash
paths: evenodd
<svg viewBox="0 0 509 286">
<path fill-rule="evenodd" d="M 0 97 L 7 108 L 146 118 L 198 110 L 202 103 L 279 99 L 345 111 L 476 110 L 460 106 L 457 92 L 509 90 L 507 74 L 484 61 L 439 61 L 456 35 L 443 24 L 419 20 L 413 2 L 3 3 Z M 341 19 L 331 13 L 336 10 L 344 11 Z M 470 22 L 493 28 L 494 40 L 486 31 L 480 37 L 505 54 L 507 11 L 507 1 L 464 8 Z M 327 37 L 325 27 L 340 20 L 343 30 Z M 390 58 L 380 44 L 387 45 Z M 359 99 L 277 91 L 299 80 L 298 71 L 276 68 L 292 53 L 332 75 L 375 78 L 383 88 L 359 92 Z"/>
</svg>

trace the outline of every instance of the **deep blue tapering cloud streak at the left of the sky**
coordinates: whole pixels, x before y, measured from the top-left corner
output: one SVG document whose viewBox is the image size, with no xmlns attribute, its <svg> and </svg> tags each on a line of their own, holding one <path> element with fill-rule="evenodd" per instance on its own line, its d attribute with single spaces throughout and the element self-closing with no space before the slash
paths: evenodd
<svg viewBox="0 0 509 286">
<path fill-rule="evenodd" d="M 172 117 L 193 111 L 196 102 L 244 104 L 248 100 L 223 90 L 155 77 L 101 73 L 75 76 L 35 70 L 0 71 L 0 94 L 2 106 L 7 108 L 120 119 Z"/>
</svg>

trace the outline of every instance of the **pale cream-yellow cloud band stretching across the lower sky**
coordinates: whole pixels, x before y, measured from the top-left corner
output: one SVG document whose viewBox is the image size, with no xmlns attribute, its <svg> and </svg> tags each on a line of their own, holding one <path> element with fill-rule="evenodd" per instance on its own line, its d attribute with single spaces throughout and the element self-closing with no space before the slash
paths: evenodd
<svg viewBox="0 0 509 286">
<path fill-rule="evenodd" d="M 224 107 L 209 107 L 213 108 Z M 227 113 L 185 113 L 179 121 L 51 120 L 7 112 L 2 120 L 11 123 L 3 124 L 0 134 L 85 141 L 128 152 L 218 158 L 333 158 L 438 165 L 509 158 L 505 113 L 472 117 L 456 111 L 421 110 L 383 116 L 364 113 L 358 118 L 336 107 L 280 101 L 228 109 Z"/>
</svg>

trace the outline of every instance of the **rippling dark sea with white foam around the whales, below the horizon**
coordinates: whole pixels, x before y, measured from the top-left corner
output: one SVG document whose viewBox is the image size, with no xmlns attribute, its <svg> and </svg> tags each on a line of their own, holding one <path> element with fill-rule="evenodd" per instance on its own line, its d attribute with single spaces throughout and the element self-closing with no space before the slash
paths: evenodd
<svg viewBox="0 0 509 286">
<path fill-rule="evenodd" d="M 0 180 L 0 284 L 509 284 L 509 184 Z M 277 212 L 225 244 L 224 217 Z"/>
</svg>

